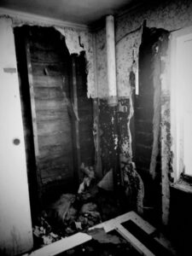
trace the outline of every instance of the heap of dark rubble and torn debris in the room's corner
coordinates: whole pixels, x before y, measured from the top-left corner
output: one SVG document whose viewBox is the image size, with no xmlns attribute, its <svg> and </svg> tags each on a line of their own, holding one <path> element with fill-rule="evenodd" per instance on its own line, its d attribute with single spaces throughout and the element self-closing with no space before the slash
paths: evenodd
<svg viewBox="0 0 192 256">
<path fill-rule="evenodd" d="M 33 227 L 36 247 L 43 247 L 79 231 L 87 232 L 91 226 L 127 211 L 125 204 L 123 207 L 119 204 L 119 196 L 97 186 L 91 168 L 85 168 L 85 171 L 79 193 L 63 194 L 41 212 Z"/>
</svg>

